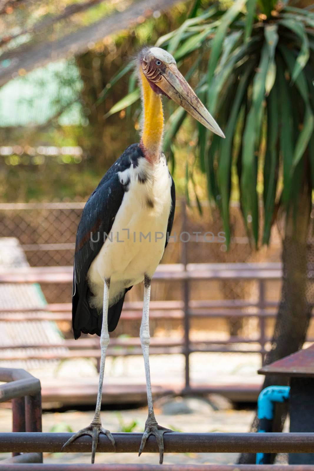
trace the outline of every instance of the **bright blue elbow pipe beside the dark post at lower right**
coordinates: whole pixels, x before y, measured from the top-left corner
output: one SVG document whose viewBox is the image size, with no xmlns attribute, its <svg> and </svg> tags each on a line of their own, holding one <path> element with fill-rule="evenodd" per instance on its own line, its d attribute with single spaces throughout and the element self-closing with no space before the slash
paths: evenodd
<svg viewBox="0 0 314 471">
<path fill-rule="evenodd" d="M 274 419 L 274 403 L 284 402 L 289 399 L 290 386 L 268 386 L 258 396 L 259 432 L 270 432 Z M 256 464 L 268 464 L 264 462 L 264 453 L 256 454 Z"/>
</svg>

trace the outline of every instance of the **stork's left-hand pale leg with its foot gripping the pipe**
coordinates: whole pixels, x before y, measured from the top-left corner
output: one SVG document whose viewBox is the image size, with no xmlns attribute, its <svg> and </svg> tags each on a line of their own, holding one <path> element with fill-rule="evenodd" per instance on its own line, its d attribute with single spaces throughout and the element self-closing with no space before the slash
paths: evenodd
<svg viewBox="0 0 314 471">
<path fill-rule="evenodd" d="M 101 335 L 100 335 L 100 349 L 101 349 L 101 357 L 100 357 L 100 371 L 99 371 L 99 384 L 98 384 L 98 394 L 97 394 L 97 404 L 95 410 L 95 416 L 92 423 L 85 427 L 82 430 L 79 430 L 77 433 L 72 435 L 72 437 L 64 444 L 62 449 L 67 445 L 70 445 L 74 440 L 82 435 L 90 435 L 92 437 L 92 463 L 95 462 L 95 454 L 96 454 L 96 447 L 98 444 L 98 437 L 99 433 L 104 433 L 107 435 L 108 439 L 111 441 L 113 448 L 115 449 L 115 442 L 113 439 L 112 434 L 109 430 L 105 430 L 101 426 L 100 420 L 100 406 L 101 406 L 101 397 L 102 397 L 102 390 L 103 390 L 103 382 L 104 382 L 104 371 L 105 371 L 105 359 L 106 359 L 106 352 L 107 347 L 109 344 L 109 332 L 108 332 L 108 302 L 109 302 L 109 287 L 110 287 L 110 278 L 105 279 L 104 283 L 104 306 L 103 306 L 103 323 L 101 326 Z"/>
</svg>

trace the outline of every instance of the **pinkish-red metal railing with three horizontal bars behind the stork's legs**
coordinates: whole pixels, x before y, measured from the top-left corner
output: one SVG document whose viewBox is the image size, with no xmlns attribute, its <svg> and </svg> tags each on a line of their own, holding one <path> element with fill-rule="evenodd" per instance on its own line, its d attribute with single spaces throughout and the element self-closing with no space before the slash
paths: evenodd
<svg viewBox="0 0 314 471">
<path fill-rule="evenodd" d="M 183 249 L 186 249 L 185 244 L 181 244 Z M 184 251 L 183 251 L 184 252 Z M 177 319 L 185 320 L 185 338 L 184 342 L 180 340 L 165 342 L 160 340 L 153 340 L 151 347 L 152 354 L 169 354 L 178 353 L 185 355 L 185 382 L 186 386 L 189 383 L 189 355 L 193 352 L 232 352 L 232 353 L 259 353 L 263 360 L 265 353 L 268 351 L 268 345 L 265 348 L 265 342 L 268 338 L 265 335 L 265 320 L 267 318 L 274 318 L 277 314 L 276 308 L 278 302 L 266 301 L 265 296 L 261 302 L 261 292 L 259 290 L 258 300 L 190 300 L 188 295 L 188 287 L 193 280 L 213 280 L 213 279 L 246 279 L 258 281 L 259 287 L 264 285 L 267 280 L 279 280 L 282 276 L 281 263 L 235 263 L 235 264 L 220 264 L 220 263 L 199 263 L 199 264 L 185 264 L 186 257 L 181 257 L 181 263 L 178 264 L 161 264 L 154 275 L 158 281 L 178 281 L 183 285 L 183 292 L 185 293 L 184 301 L 152 301 L 151 302 L 151 319 Z M 0 283 L 69 283 L 72 284 L 72 267 L 27 267 L 25 269 L 12 269 L 0 271 Z M 142 302 L 126 302 L 122 312 L 121 320 L 140 320 L 142 317 Z M 131 309 L 130 309 L 131 308 Z M 251 309 L 245 309 L 251 308 Z M 269 309 L 271 308 L 271 309 Z M 62 311 L 64 309 L 64 311 Z M 129 309 L 129 310 L 128 310 Z M 51 310 L 56 314 L 53 315 Z M 25 313 L 29 313 L 29 315 Z M 314 314 L 312 313 L 312 316 Z M 188 324 L 190 319 L 195 318 L 225 318 L 230 319 L 234 317 L 247 318 L 257 317 L 260 324 L 260 335 L 258 339 L 246 339 L 241 337 L 229 338 L 227 340 L 216 341 L 190 341 L 188 335 Z M 9 311 L 8 308 L 0 309 L 0 320 L 6 322 L 12 321 L 25 321 L 25 320 L 62 320 L 71 322 L 71 304 L 70 303 L 57 303 L 46 305 L 42 308 L 36 307 L 34 309 L 13 309 Z M 109 347 L 109 356 L 130 356 L 141 355 L 138 339 L 136 341 L 126 341 L 121 343 L 117 341 L 114 346 L 114 341 Z M 240 348 L 239 343 L 250 345 L 249 349 Z M 255 348 L 253 344 L 258 344 L 259 348 Z M 94 346 L 97 348 L 94 349 Z M 47 346 L 41 345 L 17 345 L 12 347 L 10 357 L 7 360 L 14 361 L 25 358 L 28 359 L 61 359 L 61 358 L 77 358 L 77 357 L 91 357 L 99 359 L 99 347 L 97 344 L 91 344 L 89 341 L 81 341 L 81 344 L 74 344 L 71 341 L 65 341 L 60 345 L 49 345 L 49 348 L 66 347 L 71 348 L 72 351 L 61 354 L 59 352 L 47 352 Z M 87 350 L 83 350 L 87 348 Z M 253 347 L 253 348 L 252 348 Z M 0 347 L 3 349 L 5 347 Z M 8 347 L 9 348 L 9 347 Z M 29 353 L 27 349 L 35 349 Z M 36 351 L 36 349 L 38 349 Z M 74 350 L 75 349 L 75 350 Z M 20 351 L 18 351 L 20 350 Z"/>
</svg>

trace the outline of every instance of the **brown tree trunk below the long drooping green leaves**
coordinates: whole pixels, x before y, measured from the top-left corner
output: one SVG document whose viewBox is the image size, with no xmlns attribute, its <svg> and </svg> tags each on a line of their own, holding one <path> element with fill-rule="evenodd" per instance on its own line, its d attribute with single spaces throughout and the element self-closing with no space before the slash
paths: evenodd
<svg viewBox="0 0 314 471">
<path fill-rule="evenodd" d="M 266 355 L 265 363 L 269 365 L 282 357 L 302 348 L 311 317 L 308 299 L 310 283 L 307 276 L 307 261 L 310 246 L 309 235 L 312 194 L 305 183 L 300 189 L 298 203 L 290 207 L 286 216 L 285 237 L 282 246 L 282 295 L 278 309 L 272 345 Z M 287 385 L 289 379 L 283 376 L 266 376 L 262 389 L 271 385 Z M 276 406 L 273 431 L 280 432 L 287 415 L 287 404 Z M 250 431 L 258 430 L 258 418 L 255 416 Z M 272 455 L 274 462 L 275 455 Z M 239 464 L 255 463 L 256 455 L 242 453 Z"/>
</svg>

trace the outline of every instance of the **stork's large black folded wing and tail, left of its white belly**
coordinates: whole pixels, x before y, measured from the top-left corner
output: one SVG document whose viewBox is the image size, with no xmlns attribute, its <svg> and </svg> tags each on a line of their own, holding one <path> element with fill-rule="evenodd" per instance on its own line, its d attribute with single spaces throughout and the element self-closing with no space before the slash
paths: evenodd
<svg viewBox="0 0 314 471">
<path fill-rule="evenodd" d="M 121 185 L 118 172 L 126 170 L 132 163 L 137 165 L 139 157 L 143 157 L 139 145 L 129 146 L 105 173 L 83 209 L 76 235 L 73 270 L 72 327 L 75 339 L 80 337 L 81 332 L 97 333 L 97 335 L 101 333 L 102 315 L 97 309 L 89 306 L 91 292 L 86 277 L 92 261 L 105 242 L 104 233 L 110 234 L 114 218 L 127 190 L 127 186 Z M 108 309 L 110 332 L 118 323 L 123 300 L 124 296 Z"/>
</svg>

